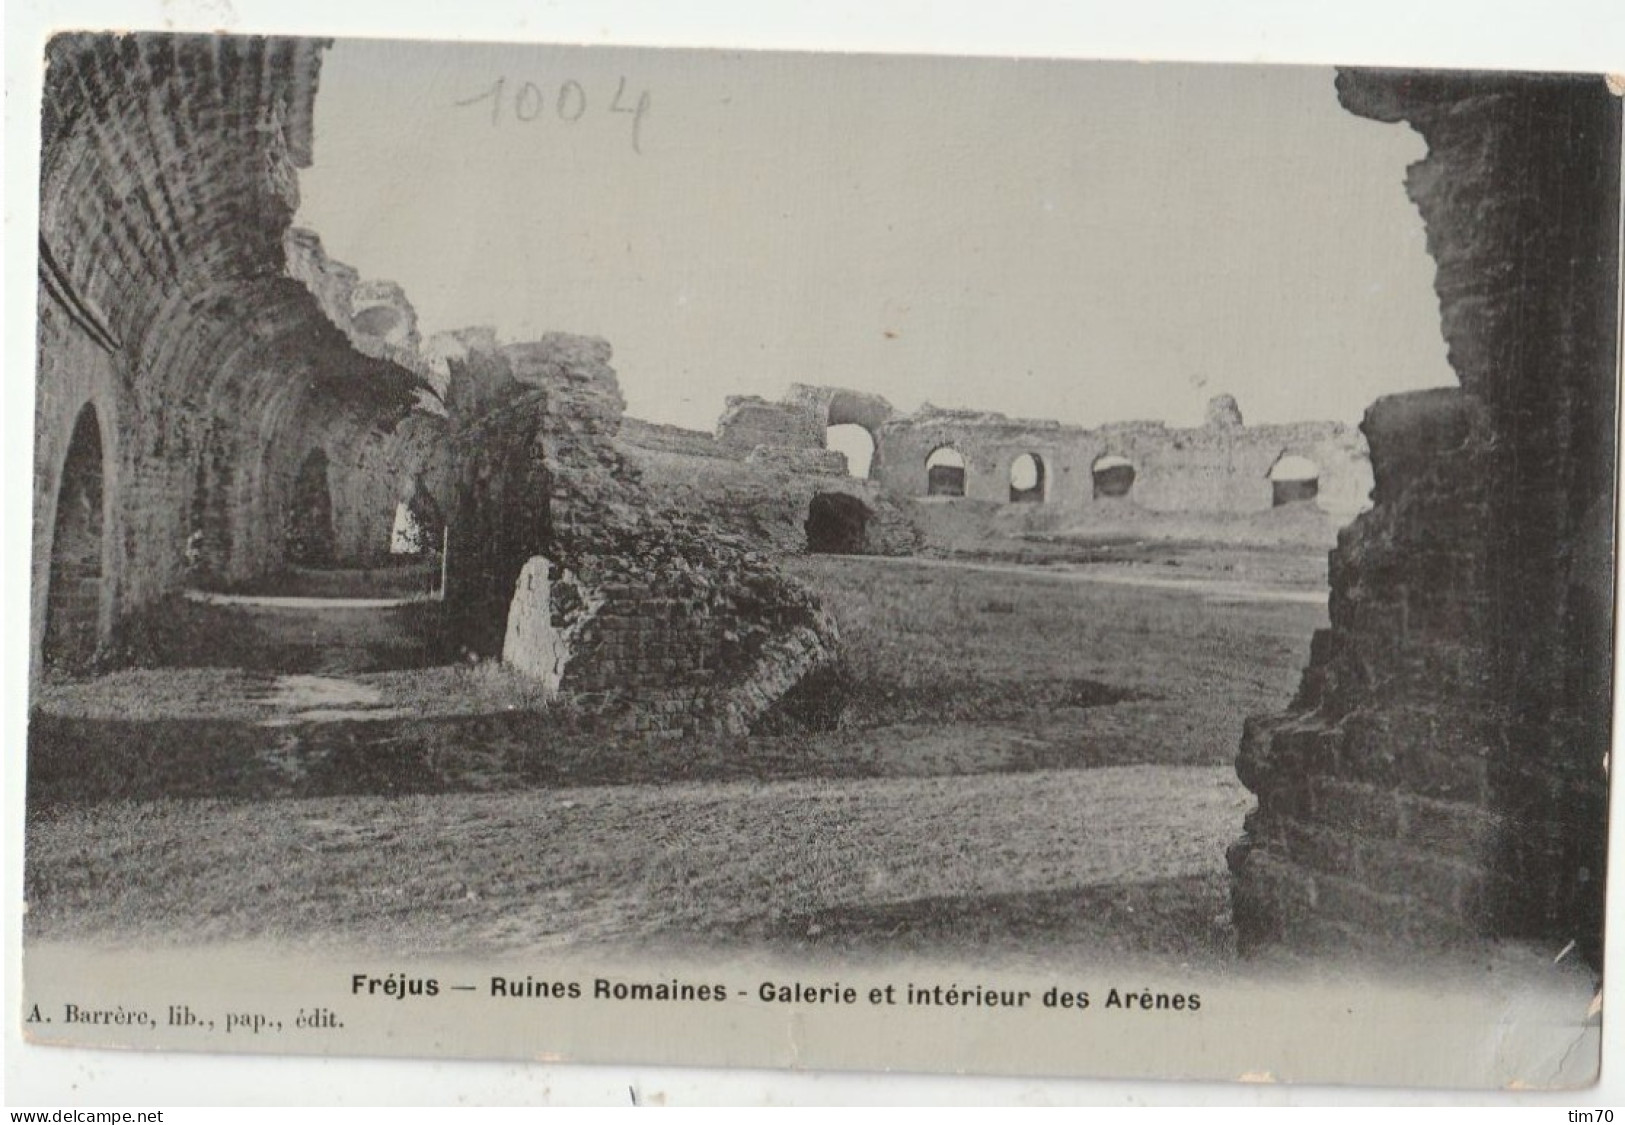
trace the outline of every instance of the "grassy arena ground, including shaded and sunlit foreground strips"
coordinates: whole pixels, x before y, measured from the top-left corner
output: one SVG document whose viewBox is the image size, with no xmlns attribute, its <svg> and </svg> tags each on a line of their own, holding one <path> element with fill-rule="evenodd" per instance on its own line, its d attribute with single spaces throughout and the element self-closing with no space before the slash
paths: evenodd
<svg viewBox="0 0 1625 1125">
<path fill-rule="evenodd" d="M 130 683 L 101 714 L 47 701 L 28 932 L 1228 956 L 1242 719 L 1290 697 L 1323 608 L 1037 567 L 793 569 L 842 629 L 848 697 L 827 733 L 650 749 L 525 709 L 278 727 L 124 712 L 114 728 Z M 353 683 L 395 707 L 434 675 L 470 676 Z M 190 691 L 218 699 L 219 683 Z M 500 683 L 465 686 L 500 699 Z"/>
</svg>

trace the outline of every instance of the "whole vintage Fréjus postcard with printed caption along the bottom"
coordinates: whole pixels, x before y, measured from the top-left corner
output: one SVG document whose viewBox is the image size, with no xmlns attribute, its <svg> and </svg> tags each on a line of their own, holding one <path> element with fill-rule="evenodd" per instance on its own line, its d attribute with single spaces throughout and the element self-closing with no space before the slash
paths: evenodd
<svg viewBox="0 0 1625 1125">
<path fill-rule="evenodd" d="M 46 57 L 29 1042 L 1596 1081 L 1612 80 Z"/>
</svg>

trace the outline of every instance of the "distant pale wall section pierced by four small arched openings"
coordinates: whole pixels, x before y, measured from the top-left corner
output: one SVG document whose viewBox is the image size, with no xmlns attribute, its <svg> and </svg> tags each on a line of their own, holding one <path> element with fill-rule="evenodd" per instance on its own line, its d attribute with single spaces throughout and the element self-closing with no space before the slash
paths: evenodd
<svg viewBox="0 0 1625 1125">
<path fill-rule="evenodd" d="M 1240 426 L 1220 416 L 1194 429 L 1160 423 L 1084 429 L 926 406 L 881 426 L 878 447 L 871 475 L 897 496 L 926 496 L 926 458 L 942 447 L 965 458 L 968 499 L 1001 504 L 1009 502 L 1011 467 L 1024 454 L 1043 462 L 1043 502 L 1061 507 L 1112 502 L 1095 496 L 1094 467 L 1102 457 L 1121 457 L 1134 467 L 1123 499 L 1165 512 L 1266 510 L 1274 502 L 1269 471 L 1294 454 L 1320 467 L 1316 502 L 1329 512 L 1352 515 L 1372 488 L 1365 441 L 1341 423 Z"/>
</svg>

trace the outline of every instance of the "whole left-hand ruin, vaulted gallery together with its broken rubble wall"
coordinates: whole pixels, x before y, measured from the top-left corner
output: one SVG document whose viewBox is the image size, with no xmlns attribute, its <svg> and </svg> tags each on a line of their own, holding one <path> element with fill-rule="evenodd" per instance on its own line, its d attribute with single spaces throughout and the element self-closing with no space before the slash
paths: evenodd
<svg viewBox="0 0 1625 1125">
<path fill-rule="evenodd" d="M 104 658 L 188 585 L 283 571 L 301 470 L 325 458 L 333 564 L 385 561 L 396 502 L 419 484 L 437 501 L 455 532 L 444 624 L 468 652 L 507 652 L 626 728 L 744 730 L 834 658 L 830 619 L 744 541 L 650 502 L 614 452 L 606 345 L 424 343 L 398 286 L 291 228 L 322 47 L 52 41 L 36 572 L 52 572 L 67 445 L 93 403 Z M 554 569 L 522 584 L 536 556 Z M 544 605 L 517 615 L 543 626 L 540 649 L 509 644 L 520 585 Z M 49 590 L 36 584 L 36 676 L 63 605 Z"/>
</svg>

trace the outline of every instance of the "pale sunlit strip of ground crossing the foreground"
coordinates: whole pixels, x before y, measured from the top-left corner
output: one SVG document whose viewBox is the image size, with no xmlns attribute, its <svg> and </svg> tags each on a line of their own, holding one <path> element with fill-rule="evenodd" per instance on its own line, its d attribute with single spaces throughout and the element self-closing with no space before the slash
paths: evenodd
<svg viewBox="0 0 1625 1125">
<path fill-rule="evenodd" d="M 954 945 L 996 922 L 990 894 L 1222 880 L 1250 803 L 1230 769 L 1128 766 L 101 806 L 29 826 L 29 930 L 491 953 L 803 943 L 832 910 L 879 910 Z M 1040 928 L 1087 922 L 1050 915 Z"/>
</svg>

